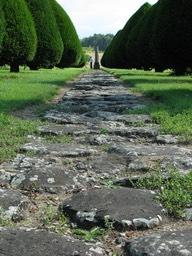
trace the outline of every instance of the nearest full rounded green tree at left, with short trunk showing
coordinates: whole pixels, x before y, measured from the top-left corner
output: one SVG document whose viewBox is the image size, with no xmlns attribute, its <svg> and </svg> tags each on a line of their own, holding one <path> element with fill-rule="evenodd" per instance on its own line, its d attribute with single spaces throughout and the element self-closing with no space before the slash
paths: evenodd
<svg viewBox="0 0 192 256">
<path fill-rule="evenodd" d="M 25 0 L 1 0 L 5 16 L 5 35 L 1 64 L 9 64 L 11 72 L 19 72 L 19 65 L 33 59 L 37 36 L 33 18 Z"/>
</svg>

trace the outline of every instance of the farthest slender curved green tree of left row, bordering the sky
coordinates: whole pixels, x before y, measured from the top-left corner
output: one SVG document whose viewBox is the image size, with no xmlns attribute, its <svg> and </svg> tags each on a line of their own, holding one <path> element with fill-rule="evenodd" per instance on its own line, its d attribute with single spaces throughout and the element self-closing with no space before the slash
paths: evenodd
<svg viewBox="0 0 192 256">
<path fill-rule="evenodd" d="M 63 55 L 57 67 L 78 67 L 84 65 L 80 40 L 70 17 L 55 0 L 50 0 L 50 2 L 64 45 Z"/>
</svg>

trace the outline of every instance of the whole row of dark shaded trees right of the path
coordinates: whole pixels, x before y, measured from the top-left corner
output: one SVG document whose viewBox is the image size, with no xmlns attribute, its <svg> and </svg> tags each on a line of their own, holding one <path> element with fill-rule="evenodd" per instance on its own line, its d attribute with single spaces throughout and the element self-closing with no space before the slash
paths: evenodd
<svg viewBox="0 0 192 256">
<path fill-rule="evenodd" d="M 116 34 L 101 64 L 109 68 L 192 72 L 192 1 L 142 5 Z"/>
</svg>

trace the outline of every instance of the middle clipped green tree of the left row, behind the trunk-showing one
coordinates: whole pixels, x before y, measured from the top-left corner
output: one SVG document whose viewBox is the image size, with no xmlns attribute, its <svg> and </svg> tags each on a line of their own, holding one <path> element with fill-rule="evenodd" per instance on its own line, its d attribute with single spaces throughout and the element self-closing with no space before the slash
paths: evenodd
<svg viewBox="0 0 192 256">
<path fill-rule="evenodd" d="M 53 68 L 63 54 L 63 41 L 49 0 L 26 0 L 37 32 L 37 52 L 30 69 Z"/>
</svg>

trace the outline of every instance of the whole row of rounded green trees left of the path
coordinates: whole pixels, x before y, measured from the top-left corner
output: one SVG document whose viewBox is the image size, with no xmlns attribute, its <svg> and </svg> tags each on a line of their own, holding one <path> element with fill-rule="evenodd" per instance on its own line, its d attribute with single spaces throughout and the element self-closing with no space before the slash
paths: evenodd
<svg viewBox="0 0 192 256">
<path fill-rule="evenodd" d="M 85 57 L 75 27 L 56 0 L 0 1 L 0 65 L 81 67 Z"/>
</svg>

